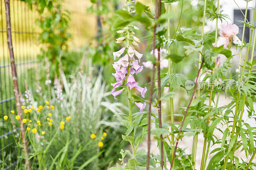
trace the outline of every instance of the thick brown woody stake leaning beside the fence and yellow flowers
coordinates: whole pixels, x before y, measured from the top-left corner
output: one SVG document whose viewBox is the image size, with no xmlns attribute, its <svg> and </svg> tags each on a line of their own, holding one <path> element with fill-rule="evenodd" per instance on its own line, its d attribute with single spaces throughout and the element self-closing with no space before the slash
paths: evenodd
<svg viewBox="0 0 256 170">
<path fill-rule="evenodd" d="M 20 105 L 20 91 L 19 91 L 19 86 L 18 86 L 18 79 L 17 79 L 17 72 L 16 72 L 16 66 L 14 62 L 14 54 L 13 54 L 13 47 L 12 47 L 12 33 L 11 33 L 11 17 L 10 17 L 10 1 L 9 0 L 4 0 L 4 5 L 5 5 L 5 14 L 6 14 L 6 28 L 7 28 L 7 42 L 8 42 L 8 48 L 10 52 L 10 63 L 11 63 L 11 68 L 12 68 L 12 82 L 13 82 L 13 92 L 15 95 L 15 100 L 16 100 L 16 107 L 17 107 L 17 113 L 20 116 L 19 119 L 19 125 L 20 125 L 20 137 L 21 141 L 23 142 L 23 151 L 25 152 L 25 163 L 26 163 L 26 169 L 30 170 L 30 161 L 28 159 L 29 153 L 28 153 L 28 148 L 27 148 L 27 140 L 24 138 L 25 135 L 25 127 L 22 123 L 22 110 L 21 110 L 21 105 Z"/>
</svg>

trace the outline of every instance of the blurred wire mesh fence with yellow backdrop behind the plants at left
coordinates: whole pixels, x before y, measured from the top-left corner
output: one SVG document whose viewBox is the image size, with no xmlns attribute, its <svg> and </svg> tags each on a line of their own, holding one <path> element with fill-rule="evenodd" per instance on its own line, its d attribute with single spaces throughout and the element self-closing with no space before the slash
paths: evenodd
<svg viewBox="0 0 256 170">
<path fill-rule="evenodd" d="M 68 42 L 69 48 L 79 50 L 88 44 L 89 40 L 96 34 L 97 17 L 86 12 L 89 7 L 89 0 L 63 0 L 62 7 L 70 12 L 69 33 L 71 40 Z M 12 159 L 12 140 L 10 129 L 4 123 L 3 116 L 8 115 L 11 110 L 15 110 L 15 97 L 12 85 L 11 65 L 9 50 L 7 45 L 7 29 L 5 18 L 4 0 L 0 0 L 0 156 L 9 155 Z M 20 92 L 26 90 L 26 84 L 31 81 L 31 68 L 36 68 L 38 64 L 37 55 L 40 54 L 38 38 L 40 28 L 37 26 L 39 14 L 35 9 L 30 9 L 28 4 L 21 0 L 10 0 L 10 15 L 12 27 L 12 43 L 14 58 L 16 63 L 18 84 Z M 33 89 L 32 89 L 33 90 Z M 13 129 L 12 129 L 13 130 Z M 18 131 L 15 129 L 14 132 Z M 10 162 L 14 162 L 11 161 Z M 8 169 L 9 167 L 5 167 Z"/>
</svg>

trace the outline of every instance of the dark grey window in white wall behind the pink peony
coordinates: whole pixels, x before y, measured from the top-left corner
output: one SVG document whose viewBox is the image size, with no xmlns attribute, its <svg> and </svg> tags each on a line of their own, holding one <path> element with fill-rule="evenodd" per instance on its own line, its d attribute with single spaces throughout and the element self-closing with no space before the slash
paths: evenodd
<svg viewBox="0 0 256 170">
<path fill-rule="evenodd" d="M 242 11 L 245 14 L 245 10 L 242 10 Z M 249 10 L 247 11 L 246 18 L 250 22 L 250 11 Z M 234 24 L 236 24 L 239 27 L 239 33 L 237 34 L 237 36 L 240 40 L 242 40 L 244 24 L 239 21 L 244 21 L 244 15 L 242 14 L 242 12 L 240 10 L 234 10 Z M 244 41 L 246 43 L 248 43 L 249 38 L 250 38 L 250 29 L 248 27 L 245 27 Z"/>
</svg>

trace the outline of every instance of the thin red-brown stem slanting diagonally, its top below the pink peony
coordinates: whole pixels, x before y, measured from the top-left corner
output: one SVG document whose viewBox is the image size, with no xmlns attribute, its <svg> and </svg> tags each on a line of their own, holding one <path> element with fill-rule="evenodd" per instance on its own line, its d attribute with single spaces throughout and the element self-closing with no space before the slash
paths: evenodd
<svg viewBox="0 0 256 170">
<path fill-rule="evenodd" d="M 191 102 L 192 102 L 192 100 L 193 100 L 193 97 L 194 97 L 194 94 L 195 94 L 195 92 L 196 92 L 196 85 L 197 85 L 199 73 L 200 73 L 200 70 L 202 69 L 203 63 L 204 63 L 204 59 L 202 60 L 201 66 L 200 66 L 200 68 L 199 68 L 199 70 L 198 70 L 198 72 L 197 72 L 196 83 L 195 83 L 195 86 L 194 86 L 194 90 L 193 90 L 192 96 L 191 96 L 190 101 L 189 101 L 189 103 L 188 103 L 188 107 L 187 107 L 187 109 L 186 109 L 186 112 L 185 112 L 185 114 L 184 114 L 184 116 L 183 116 L 183 119 L 182 119 L 182 122 L 181 122 L 181 125 L 180 125 L 180 130 L 179 130 L 179 133 L 178 133 L 178 136 L 177 136 L 177 141 L 176 141 L 175 148 L 174 148 L 174 152 L 173 152 L 173 155 L 172 155 L 172 163 L 171 163 L 171 168 L 170 168 L 170 170 L 172 170 L 172 165 L 173 165 L 175 153 L 176 153 L 176 150 L 177 150 L 177 145 L 178 145 L 178 142 L 179 142 L 179 139 L 180 139 L 180 132 L 181 132 L 181 129 L 182 129 L 182 127 L 183 127 L 183 124 L 184 124 L 186 115 L 187 115 L 187 113 L 188 113 L 188 109 L 189 109 L 189 107 L 190 107 L 190 104 L 191 104 Z"/>
</svg>

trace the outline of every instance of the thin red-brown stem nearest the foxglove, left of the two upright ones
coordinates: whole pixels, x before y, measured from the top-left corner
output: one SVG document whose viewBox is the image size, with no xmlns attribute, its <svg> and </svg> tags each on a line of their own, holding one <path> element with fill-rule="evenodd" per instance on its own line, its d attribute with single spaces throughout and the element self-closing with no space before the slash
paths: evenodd
<svg viewBox="0 0 256 170">
<path fill-rule="evenodd" d="M 161 4 L 161 0 L 160 0 L 160 4 Z M 156 0 L 156 11 L 159 9 L 159 4 L 157 4 L 157 0 Z M 161 6 L 160 6 L 161 9 Z M 160 10 L 158 10 L 159 12 L 155 15 L 155 20 L 158 18 L 158 16 L 160 15 L 159 13 L 161 12 Z M 155 54 L 155 49 L 156 49 L 156 25 L 153 28 L 153 40 L 152 40 L 152 48 L 154 50 L 154 54 Z M 149 169 L 149 160 L 150 160 L 150 125 L 151 125 L 151 103 L 152 103 L 152 95 L 153 95 L 153 88 L 154 88 L 154 79 L 155 79 L 155 63 L 153 63 L 153 69 L 152 69 L 152 77 L 151 77 L 151 83 L 150 83 L 150 92 L 149 92 L 149 98 L 148 98 L 148 155 L 147 155 L 147 167 L 146 170 Z"/>
</svg>

